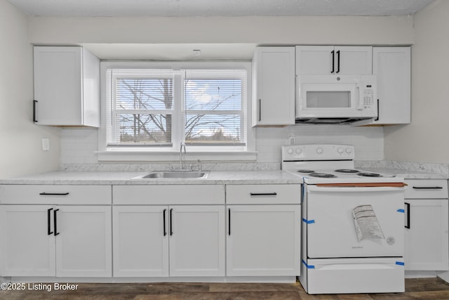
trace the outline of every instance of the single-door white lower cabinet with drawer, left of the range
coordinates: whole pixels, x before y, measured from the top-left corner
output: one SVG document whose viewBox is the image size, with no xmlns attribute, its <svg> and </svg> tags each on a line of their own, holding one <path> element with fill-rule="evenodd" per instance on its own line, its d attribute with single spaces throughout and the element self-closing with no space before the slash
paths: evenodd
<svg viewBox="0 0 449 300">
<path fill-rule="evenodd" d="M 227 276 L 300 275 L 300 185 L 227 185 Z"/>
</svg>

